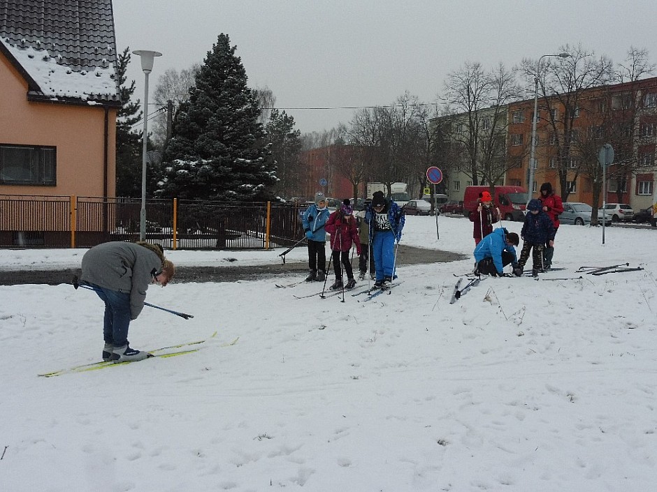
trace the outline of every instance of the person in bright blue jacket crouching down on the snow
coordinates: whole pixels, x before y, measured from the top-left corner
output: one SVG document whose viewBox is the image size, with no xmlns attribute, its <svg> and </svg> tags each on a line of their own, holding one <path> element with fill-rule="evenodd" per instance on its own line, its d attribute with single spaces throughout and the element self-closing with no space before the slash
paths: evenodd
<svg viewBox="0 0 657 492">
<path fill-rule="evenodd" d="M 479 241 L 475 247 L 475 275 L 504 276 L 504 267 L 513 265 L 513 272 L 518 273 L 518 257 L 516 248 L 520 244 L 520 238 L 515 232 L 509 232 L 506 228 L 497 228 Z"/>
</svg>

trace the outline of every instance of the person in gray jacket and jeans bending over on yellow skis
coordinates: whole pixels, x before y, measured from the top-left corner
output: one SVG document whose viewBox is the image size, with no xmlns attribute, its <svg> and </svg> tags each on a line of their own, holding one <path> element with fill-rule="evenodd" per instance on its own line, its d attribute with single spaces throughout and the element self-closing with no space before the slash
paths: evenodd
<svg viewBox="0 0 657 492">
<path fill-rule="evenodd" d="M 80 280 L 105 302 L 103 360 L 139 361 L 147 352 L 129 347 L 128 329 L 144 308 L 150 283 L 163 287 L 175 268 L 159 244 L 113 241 L 89 249 L 82 258 Z"/>
</svg>

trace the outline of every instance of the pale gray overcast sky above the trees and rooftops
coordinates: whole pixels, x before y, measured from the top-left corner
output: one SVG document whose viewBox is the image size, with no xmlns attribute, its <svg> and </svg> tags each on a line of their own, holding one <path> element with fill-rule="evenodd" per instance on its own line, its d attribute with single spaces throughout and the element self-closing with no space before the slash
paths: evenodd
<svg viewBox="0 0 657 492">
<path fill-rule="evenodd" d="M 155 50 L 150 94 L 167 68 L 202 63 L 228 34 L 250 87 L 276 107 L 388 105 L 409 91 L 433 103 L 465 61 L 492 68 L 565 44 L 623 61 L 631 45 L 657 62 L 655 0 L 113 0 L 117 49 Z M 144 75 L 128 73 L 143 100 Z M 348 123 L 353 110 L 292 110 L 303 133 Z"/>
</svg>

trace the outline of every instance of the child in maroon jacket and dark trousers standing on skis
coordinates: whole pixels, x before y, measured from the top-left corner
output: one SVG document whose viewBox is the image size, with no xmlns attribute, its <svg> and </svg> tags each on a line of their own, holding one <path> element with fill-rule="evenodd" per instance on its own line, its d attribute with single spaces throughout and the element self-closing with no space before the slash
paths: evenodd
<svg viewBox="0 0 657 492">
<path fill-rule="evenodd" d="M 333 271 L 335 271 L 335 282 L 331 285 L 331 290 L 342 288 L 340 262 L 344 265 L 347 273 L 345 288 L 353 289 L 356 281 L 354 280 L 352 262 L 349 261 L 349 251 L 352 249 L 352 244 L 356 244 L 356 254 L 360 256 L 361 241 L 356 219 L 354 218 L 354 209 L 352 209 L 349 198 L 345 198 L 340 210 L 334 211 L 329 220 L 326 221 L 326 232 L 331 234 L 331 255 L 333 258 Z"/>
</svg>

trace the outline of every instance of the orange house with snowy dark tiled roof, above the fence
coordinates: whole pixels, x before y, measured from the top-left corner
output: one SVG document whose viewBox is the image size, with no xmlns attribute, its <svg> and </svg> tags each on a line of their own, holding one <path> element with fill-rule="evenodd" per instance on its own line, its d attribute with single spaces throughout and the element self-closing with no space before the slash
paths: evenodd
<svg viewBox="0 0 657 492">
<path fill-rule="evenodd" d="M 0 195 L 115 196 L 111 0 L 0 0 Z"/>
</svg>

